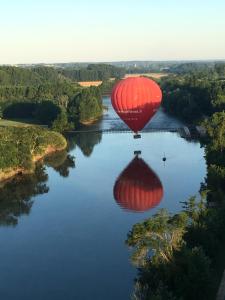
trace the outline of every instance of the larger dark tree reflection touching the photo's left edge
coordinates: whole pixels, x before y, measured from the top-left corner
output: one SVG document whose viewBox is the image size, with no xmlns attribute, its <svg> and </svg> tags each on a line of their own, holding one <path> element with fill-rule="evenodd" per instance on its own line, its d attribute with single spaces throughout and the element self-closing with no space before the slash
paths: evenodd
<svg viewBox="0 0 225 300">
<path fill-rule="evenodd" d="M 20 175 L 0 186 L 0 225 L 13 225 L 18 218 L 28 215 L 33 205 L 33 196 L 48 193 L 48 175 L 43 166 L 34 174 Z"/>
</svg>

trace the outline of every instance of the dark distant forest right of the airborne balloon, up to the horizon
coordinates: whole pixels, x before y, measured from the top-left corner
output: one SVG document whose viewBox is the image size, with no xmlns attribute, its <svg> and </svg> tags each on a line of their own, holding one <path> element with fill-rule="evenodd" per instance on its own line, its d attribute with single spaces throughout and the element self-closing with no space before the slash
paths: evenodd
<svg viewBox="0 0 225 300">
<path fill-rule="evenodd" d="M 190 68 L 190 69 L 189 69 Z M 163 107 L 187 122 L 196 122 L 225 108 L 225 64 L 216 64 L 208 71 L 195 71 L 162 78 Z"/>
</svg>

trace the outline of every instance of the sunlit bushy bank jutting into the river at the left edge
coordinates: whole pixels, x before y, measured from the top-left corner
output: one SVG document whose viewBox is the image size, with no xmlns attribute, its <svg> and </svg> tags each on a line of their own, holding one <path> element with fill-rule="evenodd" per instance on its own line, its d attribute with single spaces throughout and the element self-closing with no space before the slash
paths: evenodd
<svg viewBox="0 0 225 300">
<path fill-rule="evenodd" d="M 12 171 L 33 171 L 39 157 L 66 146 L 61 134 L 41 127 L 0 127 L 0 178 Z"/>
</svg>

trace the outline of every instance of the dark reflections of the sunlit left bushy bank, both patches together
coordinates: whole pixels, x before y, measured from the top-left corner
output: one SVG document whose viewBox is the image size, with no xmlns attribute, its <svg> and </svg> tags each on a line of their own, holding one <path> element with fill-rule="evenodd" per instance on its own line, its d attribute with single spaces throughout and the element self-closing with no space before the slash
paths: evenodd
<svg viewBox="0 0 225 300">
<path fill-rule="evenodd" d="M 74 157 L 66 151 L 56 152 L 45 158 L 44 163 L 62 177 L 69 176 L 75 168 Z M 49 192 L 48 174 L 43 164 L 37 164 L 33 174 L 18 175 L 0 183 L 0 225 L 16 226 L 22 215 L 29 215 L 34 197 Z"/>
</svg>

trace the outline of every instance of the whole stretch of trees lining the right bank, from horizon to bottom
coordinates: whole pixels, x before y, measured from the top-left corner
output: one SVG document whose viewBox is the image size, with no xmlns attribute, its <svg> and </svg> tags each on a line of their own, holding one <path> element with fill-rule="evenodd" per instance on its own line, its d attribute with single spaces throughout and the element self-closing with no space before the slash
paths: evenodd
<svg viewBox="0 0 225 300">
<path fill-rule="evenodd" d="M 133 226 L 126 243 L 138 267 L 133 299 L 215 299 L 225 267 L 225 112 L 224 65 L 211 77 L 167 78 L 164 107 L 182 119 L 200 122 L 207 136 L 207 176 L 201 199 L 183 202 L 183 211 L 160 210 Z M 194 74 L 195 72 L 193 72 Z M 195 74 L 196 75 L 196 74 Z M 171 94 L 179 93 L 179 97 Z M 185 96 L 186 94 L 188 96 Z M 186 97 L 186 99 L 185 99 Z M 189 101 L 187 101 L 187 98 Z M 193 105 L 198 108 L 195 114 Z M 192 108 L 192 109 L 191 109 Z"/>
</svg>

